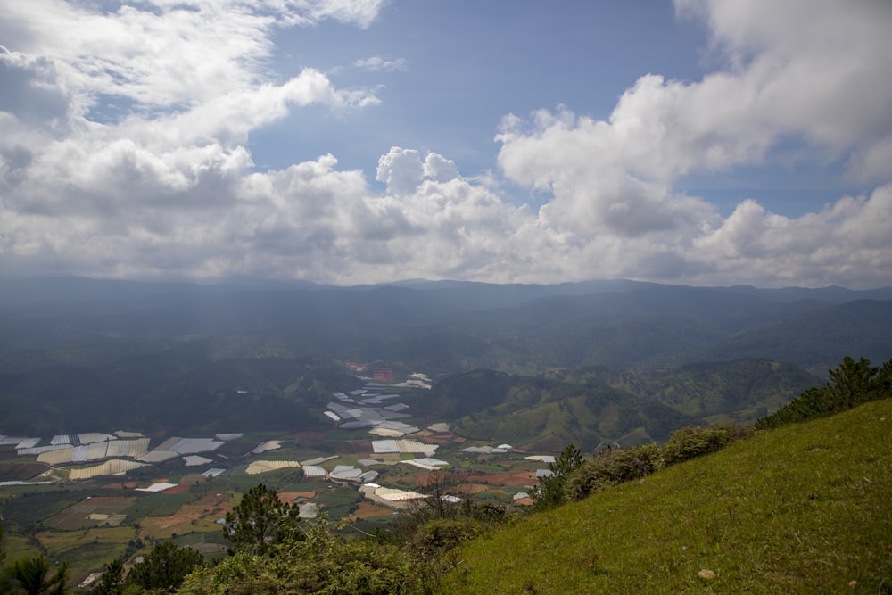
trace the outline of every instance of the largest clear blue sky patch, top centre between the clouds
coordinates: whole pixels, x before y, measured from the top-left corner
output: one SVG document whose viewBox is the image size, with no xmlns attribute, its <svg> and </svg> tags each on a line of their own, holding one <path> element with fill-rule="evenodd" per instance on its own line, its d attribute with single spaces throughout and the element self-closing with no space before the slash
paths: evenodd
<svg viewBox="0 0 892 595">
<path fill-rule="evenodd" d="M 381 86 L 381 104 L 314 118 L 295 112 L 252 135 L 252 153 L 285 167 L 294 154 L 330 151 L 374 178 L 369 154 L 410 146 L 448 155 L 476 176 L 495 169 L 505 114 L 566 104 L 607 118 L 641 73 L 701 76 L 705 46 L 704 29 L 676 20 L 666 2 L 387 4 L 368 29 L 324 21 L 281 31 L 273 58 L 285 76 L 313 66 L 338 87 Z M 369 56 L 396 63 L 371 72 L 352 66 Z"/>
</svg>

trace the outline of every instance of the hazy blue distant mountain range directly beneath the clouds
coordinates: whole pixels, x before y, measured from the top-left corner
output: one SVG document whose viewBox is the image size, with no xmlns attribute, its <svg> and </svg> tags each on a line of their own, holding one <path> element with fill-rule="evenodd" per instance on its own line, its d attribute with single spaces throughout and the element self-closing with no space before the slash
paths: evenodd
<svg viewBox="0 0 892 595">
<path fill-rule="evenodd" d="M 335 287 L 83 277 L 0 285 L 0 357 L 7 362 L 0 361 L 0 370 L 24 369 L 10 363 L 23 361 L 22 351 L 40 355 L 123 342 L 123 351 L 132 353 L 227 336 L 265 337 L 289 356 L 398 359 L 444 373 L 663 368 L 740 357 L 820 369 L 846 355 L 892 357 L 892 287 L 757 289 L 627 280 Z M 45 352 L 31 359 L 41 358 L 53 362 Z"/>
</svg>

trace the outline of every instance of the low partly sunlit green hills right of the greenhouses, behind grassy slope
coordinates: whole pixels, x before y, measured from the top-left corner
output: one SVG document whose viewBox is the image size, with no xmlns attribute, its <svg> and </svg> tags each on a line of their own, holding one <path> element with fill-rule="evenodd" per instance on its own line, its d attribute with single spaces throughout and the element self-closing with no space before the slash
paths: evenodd
<svg viewBox="0 0 892 595">
<path fill-rule="evenodd" d="M 599 442 L 665 442 L 673 430 L 708 422 L 751 425 L 809 386 L 815 377 L 766 359 L 710 362 L 641 372 L 608 368 L 508 376 L 477 370 L 434 386 L 429 401 L 453 432 L 559 451 Z M 434 405 L 432 405 L 433 409 Z"/>
</svg>

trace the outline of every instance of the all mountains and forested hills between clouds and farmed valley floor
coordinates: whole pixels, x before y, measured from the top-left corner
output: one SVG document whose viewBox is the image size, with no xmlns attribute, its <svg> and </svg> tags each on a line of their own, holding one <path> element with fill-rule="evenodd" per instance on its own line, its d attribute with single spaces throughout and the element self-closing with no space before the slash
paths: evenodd
<svg viewBox="0 0 892 595">
<path fill-rule="evenodd" d="M 468 436 L 632 443 L 752 421 L 847 355 L 892 359 L 892 299 L 878 299 L 892 288 L 8 281 L 0 408 L 22 428 L 311 427 L 359 383 L 353 360 L 442 381 L 428 412 Z"/>
</svg>

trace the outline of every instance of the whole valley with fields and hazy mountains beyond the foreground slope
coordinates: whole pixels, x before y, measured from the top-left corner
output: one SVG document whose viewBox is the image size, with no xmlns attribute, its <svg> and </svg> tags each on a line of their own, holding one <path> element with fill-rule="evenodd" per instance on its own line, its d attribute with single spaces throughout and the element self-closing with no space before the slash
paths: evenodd
<svg viewBox="0 0 892 595">
<path fill-rule="evenodd" d="M 500 514 L 567 444 L 752 426 L 849 352 L 892 357 L 892 291 L 24 280 L 0 288 L 7 561 L 80 583 L 171 541 L 226 556 L 258 483 L 387 534 L 447 470 Z M 379 533 L 384 532 L 384 533 Z"/>
</svg>

